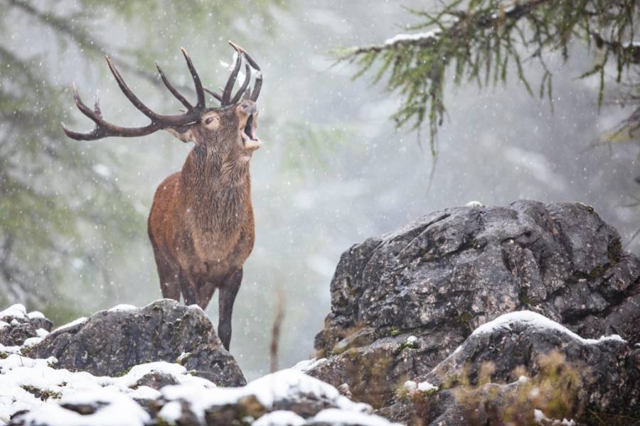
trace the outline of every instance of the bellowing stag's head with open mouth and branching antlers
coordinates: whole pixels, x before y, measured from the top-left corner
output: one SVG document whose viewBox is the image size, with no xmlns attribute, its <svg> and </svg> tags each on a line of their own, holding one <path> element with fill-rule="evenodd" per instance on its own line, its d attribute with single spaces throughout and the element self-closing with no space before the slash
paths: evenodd
<svg viewBox="0 0 640 426">
<path fill-rule="evenodd" d="M 227 80 L 227 84 L 225 84 L 222 94 L 203 88 L 198 72 L 196 72 L 195 67 L 193 67 L 191 58 L 189 58 L 186 50 L 182 49 L 187 67 L 193 78 L 193 85 L 196 88 L 196 105 L 188 102 L 188 100 L 171 85 L 164 75 L 164 72 L 162 72 L 161 68 L 156 64 L 160 77 L 167 89 L 169 89 L 169 92 L 186 108 L 183 114 L 177 115 L 157 114 L 151 111 L 149 107 L 146 107 L 132 90 L 129 89 L 124 80 L 122 80 L 118 70 L 107 56 L 107 64 L 120 89 L 127 99 L 134 104 L 134 107 L 139 109 L 142 114 L 151 120 L 151 123 L 144 127 L 120 127 L 111 124 L 105 121 L 105 119 L 102 119 L 97 98 L 94 109 L 90 109 L 82 102 L 74 86 L 73 99 L 75 100 L 75 104 L 82 114 L 85 114 L 85 116 L 94 121 L 95 127 L 89 133 L 78 133 L 68 130 L 63 124 L 63 131 L 70 138 L 92 141 L 108 136 L 145 136 L 164 129 L 183 142 L 193 142 L 196 143 L 196 146 L 203 146 L 208 150 L 217 151 L 225 155 L 233 155 L 237 158 L 250 158 L 252 151 L 260 148 L 261 143 L 255 134 L 255 130 L 257 128 L 256 101 L 260 94 L 260 87 L 262 87 L 262 72 L 257 62 L 255 62 L 244 49 L 235 43 L 229 43 L 238 55 L 235 60 L 235 67 Z M 245 63 L 245 80 L 242 82 L 238 92 L 233 94 L 233 87 L 238 78 L 242 62 Z M 256 74 L 253 89 L 250 89 L 249 84 L 252 77 L 252 69 L 256 71 Z M 206 107 L 205 92 L 208 92 L 215 99 L 218 99 L 220 107 Z"/>
</svg>

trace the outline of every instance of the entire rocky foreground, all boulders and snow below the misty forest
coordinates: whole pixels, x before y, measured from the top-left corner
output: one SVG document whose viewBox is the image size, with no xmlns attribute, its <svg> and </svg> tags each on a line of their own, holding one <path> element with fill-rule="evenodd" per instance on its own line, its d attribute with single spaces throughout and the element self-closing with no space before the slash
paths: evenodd
<svg viewBox="0 0 640 426">
<path fill-rule="evenodd" d="M 50 329 L 0 312 L 0 424 L 640 421 L 640 261 L 584 204 L 474 203 L 353 246 L 319 359 L 247 385 L 196 307 Z"/>
</svg>

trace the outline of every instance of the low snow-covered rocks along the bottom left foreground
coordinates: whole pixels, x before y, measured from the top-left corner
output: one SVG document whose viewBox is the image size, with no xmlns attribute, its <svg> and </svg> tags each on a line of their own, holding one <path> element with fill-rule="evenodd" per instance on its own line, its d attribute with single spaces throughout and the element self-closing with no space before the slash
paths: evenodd
<svg viewBox="0 0 640 426">
<path fill-rule="evenodd" d="M 370 405 L 353 403 L 333 386 L 294 369 L 222 388 L 163 361 L 134 366 L 122 377 L 55 369 L 55 361 L 17 354 L 0 360 L 0 424 L 392 425 L 372 415 Z M 176 384 L 159 390 L 140 385 L 154 373 Z"/>
</svg>

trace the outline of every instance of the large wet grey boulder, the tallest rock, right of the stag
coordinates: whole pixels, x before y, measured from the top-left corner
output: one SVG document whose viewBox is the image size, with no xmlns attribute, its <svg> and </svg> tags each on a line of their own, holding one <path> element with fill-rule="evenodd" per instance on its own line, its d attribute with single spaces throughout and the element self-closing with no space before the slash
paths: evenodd
<svg viewBox="0 0 640 426">
<path fill-rule="evenodd" d="M 480 324 L 524 309 L 583 337 L 620 334 L 635 344 L 640 261 L 585 204 L 427 214 L 343 253 L 315 343 L 328 360 L 309 373 L 385 407 Z"/>
</svg>

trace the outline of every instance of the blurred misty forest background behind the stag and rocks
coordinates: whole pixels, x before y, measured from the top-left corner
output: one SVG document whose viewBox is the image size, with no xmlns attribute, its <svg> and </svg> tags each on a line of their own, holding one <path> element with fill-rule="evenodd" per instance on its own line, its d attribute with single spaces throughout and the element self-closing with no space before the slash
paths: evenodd
<svg viewBox="0 0 640 426">
<path fill-rule="evenodd" d="M 71 141 L 92 123 L 73 104 L 96 90 L 105 118 L 146 123 L 117 88 L 108 53 L 134 92 L 164 114 L 180 107 L 154 73 L 157 60 L 188 91 L 184 46 L 207 87 L 225 82 L 231 39 L 260 62 L 265 83 L 252 159 L 255 249 L 236 300 L 231 351 L 247 378 L 267 372 L 271 325 L 284 295 L 280 365 L 314 354 L 342 251 L 421 214 L 478 200 L 580 201 L 640 253 L 639 147 L 603 135 L 629 116 L 615 102 L 615 64 L 579 79 L 596 49 L 570 43 L 526 61 L 526 78 L 553 73 L 551 99 L 532 97 L 508 67 L 506 84 L 444 87 L 437 161 L 429 130 L 396 129 L 401 97 L 332 52 L 383 43 L 436 1 L 0 0 L 0 306 L 22 302 L 56 325 L 160 295 L 146 236 L 157 185 L 191 145 L 168 133 Z M 520 47 L 526 57 L 526 48 Z M 191 92 L 193 93 L 193 92 Z M 428 124 L 426 125 L 428 127 Z M 626 141 L 627 143 L 619 143 Z M 434 169 L 434 164 L 436 168 Z M 217 318 L 216 298 L 208 315 Z"/>
</svg>

